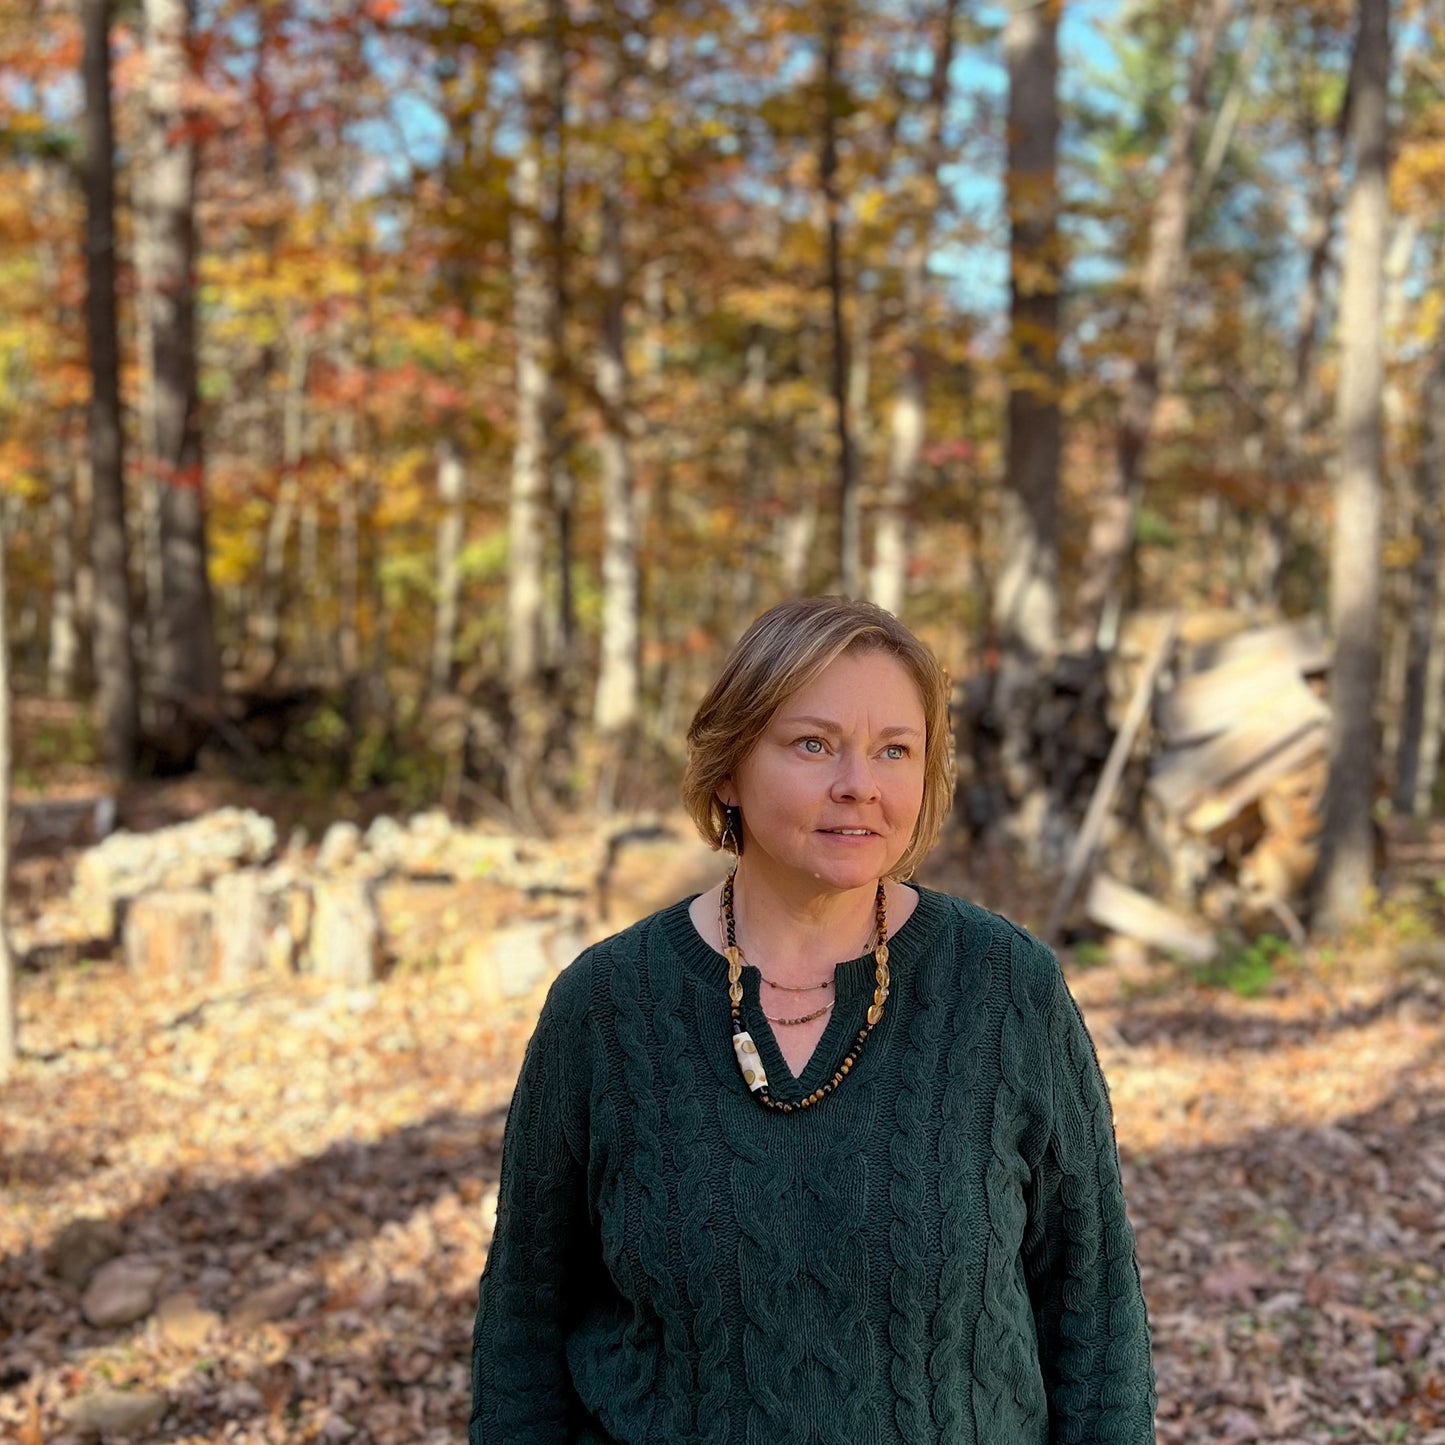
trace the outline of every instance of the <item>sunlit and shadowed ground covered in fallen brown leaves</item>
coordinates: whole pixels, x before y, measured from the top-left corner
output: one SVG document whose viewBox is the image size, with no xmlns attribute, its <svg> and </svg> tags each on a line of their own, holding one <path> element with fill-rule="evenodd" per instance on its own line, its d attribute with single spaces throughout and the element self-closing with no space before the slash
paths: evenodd
<svg viewBox="0 0 1445 1445">
<path fill-rule="evenodd" d="M 1066 958 L 1113 1087 L 1163 1442 L 1445 1442 L 1441 933 L 1423 894 L 1234 972 Z M 20 1019 L 0 1438 L 81 1436 L 87 1409 L 124 1410 L 107 1392 L 133 1439 L 178 1445 L 464 1436 L 526 1020 L 488 1023 L 435 965 L 140 993 L 108 961 L 27 974 Z M 94 1217 L 150 1267 L 134 1324 L 88 1324 L 56 1273 Z"/>
</svg>

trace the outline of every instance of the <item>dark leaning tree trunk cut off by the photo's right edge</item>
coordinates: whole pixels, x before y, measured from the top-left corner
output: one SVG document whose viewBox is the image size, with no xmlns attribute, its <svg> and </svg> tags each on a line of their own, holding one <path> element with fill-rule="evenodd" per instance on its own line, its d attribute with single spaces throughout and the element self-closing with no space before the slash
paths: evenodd
<svg viewBox="0 0 1445 1445">
<path fill-rule="evenodd" d="M 1438 672 L 1436 614 L 1441 610 L 1441 507 L 1445 506 L 1445 338 L 1436 342 L 1435 363 L 1425 384 L 1425 455 L 1420 458 L 1419 540 L 1409 610 L 1405 665 L 1405 709 L 1394 769 L 1394 811 L 1423 818 L 1429 812 L 1433 770 L 1420 766 L 1429 683 Z M 1436 692 L 1439 681 L 1435 679 Z M 1436 727 L 1439 717 L 1436 714 Z"/>
</svg>

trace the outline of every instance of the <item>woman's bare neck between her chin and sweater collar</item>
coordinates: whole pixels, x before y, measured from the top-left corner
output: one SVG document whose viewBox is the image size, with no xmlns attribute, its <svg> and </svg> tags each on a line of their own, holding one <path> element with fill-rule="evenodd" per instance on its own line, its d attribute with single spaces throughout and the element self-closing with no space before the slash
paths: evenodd
<svg viewBox="0 0 1445 1445">
<path fill-rule="evenodd" d="M 751 962 L 782 983 L 812 980 L 819 968 L 857 958 L 873 938 L 877 883 L 805 896 L 779 890 L 738 863 L 733 892 L 737 941 Z M 890 928 L 892 932 L 892 928 Z"/>
</svg>

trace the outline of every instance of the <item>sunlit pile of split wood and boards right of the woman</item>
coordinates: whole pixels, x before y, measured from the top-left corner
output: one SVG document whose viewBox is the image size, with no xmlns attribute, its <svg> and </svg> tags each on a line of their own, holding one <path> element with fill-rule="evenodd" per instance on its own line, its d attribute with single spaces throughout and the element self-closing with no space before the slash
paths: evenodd
<svg viewBox="0 0 1445 1445">
<path fill-rule="evenodd" d="M 1228 923 L 1264 918 L 1300 936 L 1327 777 L 1325 627 L 1318 617 L 1263 627 L 1228 613 L 1136 617 L 1113 662 L 1116 711 L 1146 685 L 1144 659 L 1170 623 L 1166 663 L 1147 679 L 1152 727 L 1134 746 L 1142 796 L 1113 801 L 1137 827 L 1090 850 L 1103 870 L 1085 912 L 1191 958 L 1207 958 Z"/>
</svg>

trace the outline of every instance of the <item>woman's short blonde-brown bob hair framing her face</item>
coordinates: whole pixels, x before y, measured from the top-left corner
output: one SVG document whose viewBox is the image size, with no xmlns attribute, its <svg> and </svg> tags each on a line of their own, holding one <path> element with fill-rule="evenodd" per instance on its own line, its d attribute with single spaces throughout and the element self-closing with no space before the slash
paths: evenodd
<svg viewBox="0 0 1445 1445">
<path fill-rule="evenodd" d="M 682 802 L 698 832 L 722 847 L 727 809 L 717 790 L 737 770 L 782 704 L 844 653 L 883 652 L 907 669 L 923 704 L 923 805 L 890 877 L 907 879 L 938 840 L 954 792 L 948 675 L 892 613 L 847 597 L 779 603 L 737 640 L 688 728 Z M 741 840 L 740 840 L 741 841 Z"/>
</svg>

